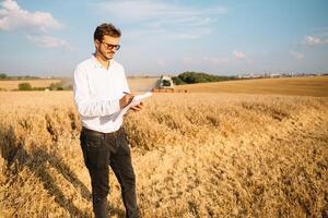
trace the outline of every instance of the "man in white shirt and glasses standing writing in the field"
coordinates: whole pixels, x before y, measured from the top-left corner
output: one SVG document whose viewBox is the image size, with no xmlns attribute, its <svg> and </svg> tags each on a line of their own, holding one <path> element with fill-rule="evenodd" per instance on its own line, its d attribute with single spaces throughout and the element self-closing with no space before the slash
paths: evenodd
<svg viewBox="0 0 328 218">
<path fill-rule="evenodd" d="M 127 217 L 139 217 L 130 147 L 117 117 L 133 98 L 124 68 L 113 57 L 120 48 L 120 31 L 102 24 L 94 32 L 95 53 L 74 71 L 74 101 L 82 121 L 81 147 L 92 184 L 95 217 L 108 217 L 109 165 L 121 186 Z M 142 109 L 142 102 L 132 107 Z"/>
</svg>

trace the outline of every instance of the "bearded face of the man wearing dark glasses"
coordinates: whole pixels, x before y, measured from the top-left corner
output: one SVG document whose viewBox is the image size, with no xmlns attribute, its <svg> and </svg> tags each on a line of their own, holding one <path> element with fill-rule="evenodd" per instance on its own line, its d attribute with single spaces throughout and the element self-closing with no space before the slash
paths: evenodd
<svg viewBox="0 0 328 218">
<path fill-rule="evenodd" d="M 117 45 L 119 45 L 119 37 L 112 37 L 105 35 L 102 41 L 95 40 L 96 52 L 103 58 L 110 60 L 117 51 Z"/>
</svg>

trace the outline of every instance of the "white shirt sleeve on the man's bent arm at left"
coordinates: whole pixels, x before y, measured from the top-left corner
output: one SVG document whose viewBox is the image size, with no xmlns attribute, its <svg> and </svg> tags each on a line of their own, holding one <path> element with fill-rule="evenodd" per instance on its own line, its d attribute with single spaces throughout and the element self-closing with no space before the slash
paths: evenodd
<svg viewBox="0 0 328 218">
<path fill-rule="evenodd" d="M 83 117 L 110 116 L 120 110 L 119 99 L 93 101 L 90 98 L 87 74 L 80 65 L 74 70 L 73 92 L 78 111 Z"/>
</svg>

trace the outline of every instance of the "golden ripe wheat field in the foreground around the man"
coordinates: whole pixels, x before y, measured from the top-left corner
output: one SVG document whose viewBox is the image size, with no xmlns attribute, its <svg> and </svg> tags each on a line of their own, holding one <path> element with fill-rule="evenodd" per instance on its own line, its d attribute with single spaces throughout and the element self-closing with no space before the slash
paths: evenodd
<svg viewBox="0 0 328 218">
<path fill-rule="evenodd" d="M 71 92 L 0 92 L 0 217 L 92 217 Z M 154 94 L 125 128 L 142 217 L 327 217 L 328 98 Z M 113 217 L 125 217 L 109 175 Z"/>
</svg>

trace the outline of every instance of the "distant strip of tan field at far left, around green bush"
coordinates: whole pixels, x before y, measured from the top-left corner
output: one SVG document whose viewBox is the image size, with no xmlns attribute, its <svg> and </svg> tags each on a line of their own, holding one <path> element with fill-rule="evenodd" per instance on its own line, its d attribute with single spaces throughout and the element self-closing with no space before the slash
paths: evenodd
<svg viewBox="0 0 328 218">
<path fill-rule="evenodd" d="M 30 83 L 32 87 L 48 87 L 51 83 L 59 82 L 60 80 L 0 81 L 0 90 L 17 89 L 20 83 Z"/>
</svg>

